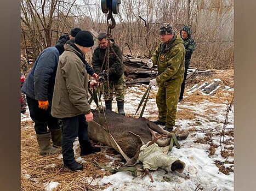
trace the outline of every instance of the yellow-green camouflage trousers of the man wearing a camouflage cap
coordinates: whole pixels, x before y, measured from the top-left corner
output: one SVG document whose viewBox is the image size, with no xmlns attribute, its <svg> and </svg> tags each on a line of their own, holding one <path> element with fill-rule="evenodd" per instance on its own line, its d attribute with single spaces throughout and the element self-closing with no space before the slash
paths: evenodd
<svg viewBox="0 0 256 191">
<path fill-rule="evenodd" d="M 156 104 L 158 108 L 158 120 L 166 122 L 166 127 L 174 127 L 179 102 L 180 87 L 183 76 L 164 82 L 158 86 Z"/>
</svg>

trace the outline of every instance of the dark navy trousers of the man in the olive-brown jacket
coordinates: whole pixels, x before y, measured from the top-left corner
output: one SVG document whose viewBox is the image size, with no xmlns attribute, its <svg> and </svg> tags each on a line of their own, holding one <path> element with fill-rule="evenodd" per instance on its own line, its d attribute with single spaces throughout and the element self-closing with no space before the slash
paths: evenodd
<svg viewBox="0 0 256 191">
<path fill-rule="evenodd" d="M 73 151 L 73 142 L 78 136 L 79 142 L 89 141 L 88 123 L 84 114 L 75 117 L 62 118 L 62 156 L 64 165 L 75 162 L 75 154 Z"/>
</svg>

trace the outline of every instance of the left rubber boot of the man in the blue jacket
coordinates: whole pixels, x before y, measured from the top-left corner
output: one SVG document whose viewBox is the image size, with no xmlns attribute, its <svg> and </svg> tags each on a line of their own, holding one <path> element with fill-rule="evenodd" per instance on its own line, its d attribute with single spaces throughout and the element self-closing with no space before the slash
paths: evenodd
<svg viewBox="0 0 256 191">
<path fill-rule="evenodd" d="M 36 135 L 37 142 L 40 148 L 40 155 L 56 154 L 61 152 L 61 148 L 55 148 L 52 145 L 50 145 L 50 137 L 50 133 Z"/>
</svg>

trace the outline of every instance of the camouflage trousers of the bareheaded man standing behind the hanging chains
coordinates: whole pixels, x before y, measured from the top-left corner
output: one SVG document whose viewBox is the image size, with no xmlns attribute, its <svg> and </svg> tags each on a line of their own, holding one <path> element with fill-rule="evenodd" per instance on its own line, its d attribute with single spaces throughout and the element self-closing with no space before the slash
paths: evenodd
<svg viewBox="0 0 256 191">
<path fill-rule="evenodd" d="M 124 89 L 126 87 L 126 80 L 124 79 L 124 74 L 116 82 L 109 81 L 109 86 L 107 82 L 104 82 L 104 99 L 113 100 L 113 95 L 115 93 L 116 100 L 121 102 L 124 100 Z"/>
</svg>

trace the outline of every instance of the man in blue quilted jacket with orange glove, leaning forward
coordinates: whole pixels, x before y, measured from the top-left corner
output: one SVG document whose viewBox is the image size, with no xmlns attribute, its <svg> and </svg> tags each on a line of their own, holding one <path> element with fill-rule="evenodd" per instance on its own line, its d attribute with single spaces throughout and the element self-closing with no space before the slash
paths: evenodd
<svg viewBox="0 0 256 191">
<path fill-rule="evenodd" d="M 65 38 L 60 38 L 64 39 Z M 65 43 L 64 42 L 64 43 Z M 64 43 L 44 49 L 36 59 L 21 92 L 26 94 L 30 117 L 35 122 L 35 131 L 39 145 L 39 154 L 55 154 L 61 152 L 61 128 L 58 118 L 50 114 L 53 89 L 59 56 L 64 52 Z M 48 128 L 49 131 L 48 131 Z M 50 139 L 53 141 L 52 146 Z"/>
</svg>

